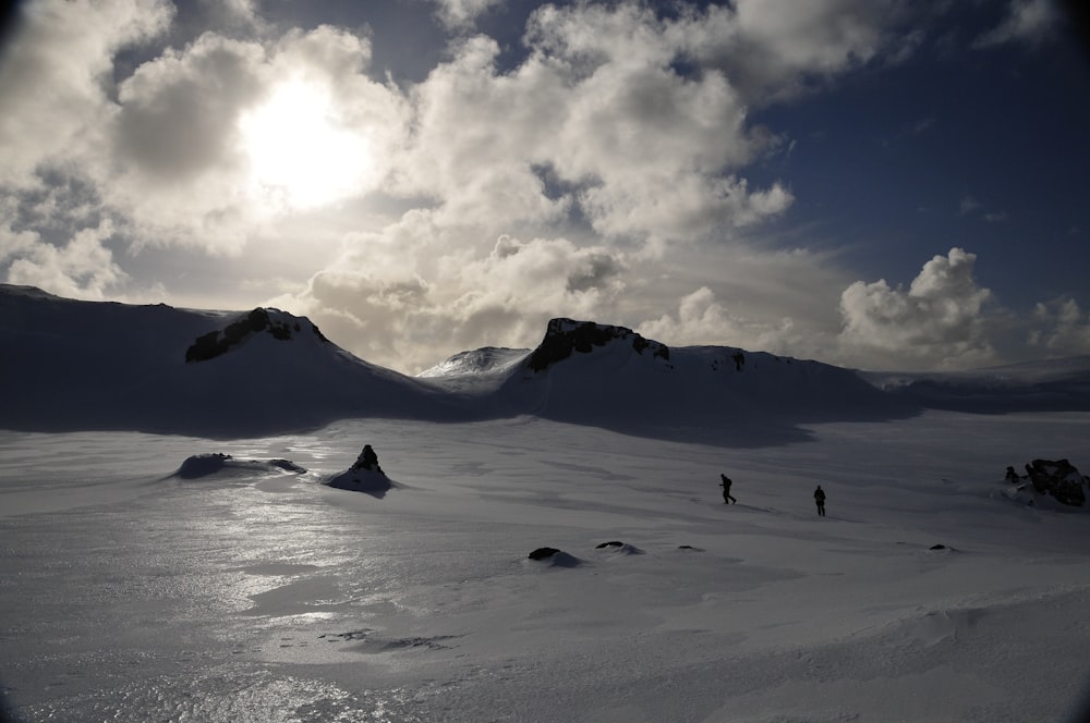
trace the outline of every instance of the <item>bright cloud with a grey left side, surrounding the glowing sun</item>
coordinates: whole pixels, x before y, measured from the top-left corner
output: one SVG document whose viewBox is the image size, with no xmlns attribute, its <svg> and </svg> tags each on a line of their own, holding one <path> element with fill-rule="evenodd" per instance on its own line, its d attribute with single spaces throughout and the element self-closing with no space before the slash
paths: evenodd
<svg viewBox="0 0 1090 723">
<path fill-rule="evenodd" d="M 271 45 L 205 34 L 119 88 L 108 200 L 153 243 L 238 253 L 279 217 L 377 187 L 407 125 L 370 45 L 319 26 Z"/>
</svg>

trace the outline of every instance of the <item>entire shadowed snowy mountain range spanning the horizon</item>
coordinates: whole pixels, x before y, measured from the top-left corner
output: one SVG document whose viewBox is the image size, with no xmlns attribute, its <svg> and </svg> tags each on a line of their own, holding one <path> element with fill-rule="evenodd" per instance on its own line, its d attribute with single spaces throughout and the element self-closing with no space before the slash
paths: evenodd
<svg viewBox="0 0 1090 723">
<path fill-rule="evenodd" d="M 0 284 L 0 428 L 242 437 L 343 418 L 536 416 L 763 445 L 800 425 L 923 408 L 1090 409 L 1090 357 L 960 373 L 858 372 L 728 346 L 668 347 L 553 319 L 534 350 L 461 352 L 417 377 L 356 358 L 277 309 L 80 302 Z"/>
</svg>

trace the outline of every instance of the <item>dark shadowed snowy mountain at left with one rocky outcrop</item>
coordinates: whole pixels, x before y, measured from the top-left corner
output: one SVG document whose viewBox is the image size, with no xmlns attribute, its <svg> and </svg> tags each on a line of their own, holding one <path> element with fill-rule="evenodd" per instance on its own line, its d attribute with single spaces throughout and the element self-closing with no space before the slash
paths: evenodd
<svg viewBox="0 0 1090 723">
<path fill-rule="evenodd" d="M 0 286 L 0 426 L 234 436 L 346 417 L 449 419 L 457 399 L 276 309 L 198 311 Z"/>
</svg>

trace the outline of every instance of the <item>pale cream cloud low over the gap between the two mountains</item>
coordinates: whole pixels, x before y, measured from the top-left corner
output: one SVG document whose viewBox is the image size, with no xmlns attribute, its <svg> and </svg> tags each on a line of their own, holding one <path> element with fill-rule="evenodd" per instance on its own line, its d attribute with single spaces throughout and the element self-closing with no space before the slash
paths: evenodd
<svg viewBox="0 0 1090 723">
<path fill-rule="evenodd" d="M 549 318 L 608 314 L 623 291 L 626 261 L 603 246 L 505 235 L 472 250 L 477 231 L 408 213 L 270 303 L 368 362 L 416 372 L 458 351 L 536 344 Z"/>
</svg>

